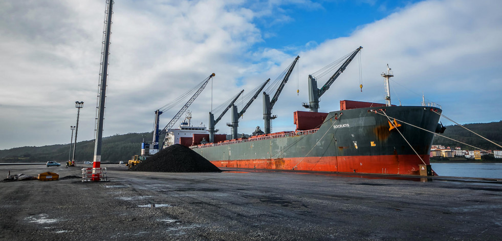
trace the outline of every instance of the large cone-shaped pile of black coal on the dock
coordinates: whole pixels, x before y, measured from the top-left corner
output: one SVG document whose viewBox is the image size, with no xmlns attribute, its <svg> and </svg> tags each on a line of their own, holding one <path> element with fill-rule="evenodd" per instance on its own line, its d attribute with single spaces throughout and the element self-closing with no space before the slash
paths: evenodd
<svg viewBox="0 0 502 241">
<path fill-rule="evenodd" d="M 221 171 L 207 159 L 192 149 L 180 145 L 170 145 L 160 150 L 154 156 L 136 164 L 132 171 L 157 172 L 211 172 Z"/>
</svg>

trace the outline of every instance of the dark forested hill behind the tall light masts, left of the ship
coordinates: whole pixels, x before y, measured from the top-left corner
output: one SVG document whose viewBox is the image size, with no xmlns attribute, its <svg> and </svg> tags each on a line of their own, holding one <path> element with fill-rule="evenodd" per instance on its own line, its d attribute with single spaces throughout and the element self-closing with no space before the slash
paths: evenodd
<svg viewBox="0 0 502 241">
<path fill-rule="evenodd" d="M 101 161 L 127 161 L 133 155 L 139 155 L 141 142 L 150 140 L 151 133 L 129 133 L 103 138 Z M 70 155 L 70 144 L 49 146 L 24 146 L 7 150 L 0 150 L 0 163 L 19 162 L 67 162 Z M 94 141 L 77 142 L 75 160 L 77 162 L 93 161 Z"/>
</svg>

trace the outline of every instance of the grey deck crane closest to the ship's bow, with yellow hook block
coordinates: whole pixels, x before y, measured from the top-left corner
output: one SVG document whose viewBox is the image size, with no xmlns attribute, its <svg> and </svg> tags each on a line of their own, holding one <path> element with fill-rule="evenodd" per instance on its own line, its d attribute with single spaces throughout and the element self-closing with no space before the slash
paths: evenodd
<svg viewBox="0 0 502 241">
<path fill-rule="evenodd" d="M 330 89 L 330 86 L 335 82 L 336 78 L 338 78 L 338 76 L 343 73 L 345 68 L 347 68 L 347 65 L 351 63 L 352 59 L 356 57 L 357 53 L 359 53 L 361 49 L 362 47 L 359 47 L 354 50 L 354 52 L 350 54 L 350 56 L 345 60 L 345 62 L 343 62 L 343 64 L 335 72 L 335 74 L 333 74 L 333 76 L 331 76 L 331 78 L 321 87 L 321 89 L 317 89 L 317 80 L 315 79 L 315 77 L 309 75 L 309 103 L 303 102 L 301 105 L 305 108 L 309 108 L 311 112 L 317 112 L 319 109 L 319 98 L 328 89 Z"/>
</svg>

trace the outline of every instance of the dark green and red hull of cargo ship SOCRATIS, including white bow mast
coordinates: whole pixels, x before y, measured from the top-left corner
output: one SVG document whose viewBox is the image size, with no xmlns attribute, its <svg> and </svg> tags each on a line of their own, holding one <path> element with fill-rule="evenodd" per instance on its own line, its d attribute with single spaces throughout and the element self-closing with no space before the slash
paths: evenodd
<svg viewBox="0 0 502 241">
<path fill-rule="evenodd" d="M 390 68 L 388 68 L 390 71 Z M 294 113 L 296 129 L 193 145 L 217 167 L 433 175 L 429 154 L 442 109 L 340 101 L 340 111 Z M 197 143 L 193 143 L 197 144 Z"/>
</svg>

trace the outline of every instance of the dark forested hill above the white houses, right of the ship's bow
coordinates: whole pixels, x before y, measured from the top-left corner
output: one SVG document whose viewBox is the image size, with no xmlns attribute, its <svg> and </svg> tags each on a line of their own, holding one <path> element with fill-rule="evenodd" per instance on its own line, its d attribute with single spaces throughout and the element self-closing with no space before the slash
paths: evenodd
<svg viewBox="0 0 502 241">
<path fill-rule="evenodd" d="M 488 140 L 491 140 L 499 145 L 502 145 L 502 121 L 490 122 L 490 123 L 472 123 L 472 124 L 465 124 L 463 126 L 487 138 Z M 452 138 L 454 140 L 461 141 L 466 144 L 482 148 L 485 150 L 502 150 L 502 148 L 490 143 L 489 141 L 481 137 L 478 137 L 477 135 L 469 132 L 469 130 L 466 130 L 465 128 L 462 128 L 461 126 L 458 125 L 446 126 L 446 130 L 443 135 Z M 454 146 L 460 146 L 462 147 L 462 149 L 470 149 L 470 150 L 474 149 L 472 147 L 460 144 L 458 142 L 440 136 L 434 137 L 433 144 L 450 146 L 452 148 Z"/>
</svg>

